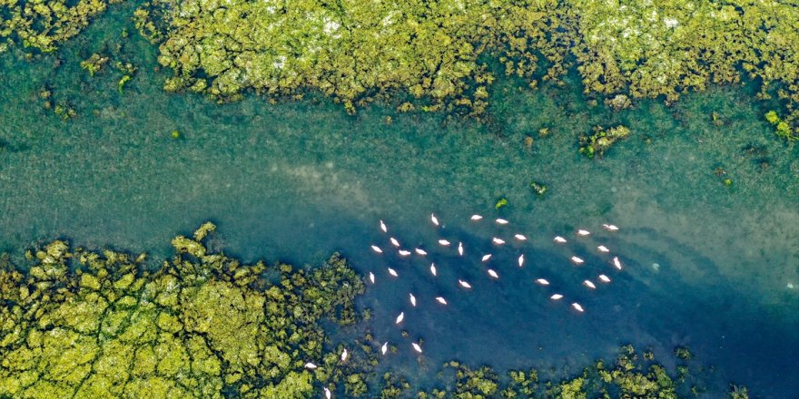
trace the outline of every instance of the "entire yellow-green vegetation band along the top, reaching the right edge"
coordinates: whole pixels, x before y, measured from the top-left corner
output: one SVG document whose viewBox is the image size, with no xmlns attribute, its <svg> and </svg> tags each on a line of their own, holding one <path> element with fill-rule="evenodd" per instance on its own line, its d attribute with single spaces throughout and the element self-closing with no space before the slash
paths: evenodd
<svg viewBox="0 0 799 399">
<path fill-rule="evenodd" d="M 350 112 L 392 97 L 401 110 L 479 115 L 496 78 L 489 60 L 530 87 L 576 63 L 586 92 L 615 109 L 746 78 L 799 125 L 794 2 L 153 0 L 136 19 L 174 71 L 168 90 L 220 100 L 312 89 Z"/>
</svg>

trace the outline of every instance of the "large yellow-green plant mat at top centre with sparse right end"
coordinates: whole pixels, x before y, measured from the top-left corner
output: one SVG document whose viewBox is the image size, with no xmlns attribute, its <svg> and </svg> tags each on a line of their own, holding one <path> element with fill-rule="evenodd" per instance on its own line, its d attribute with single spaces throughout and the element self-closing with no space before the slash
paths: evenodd
<svg viewBox="0 0 799 399">
<path fill-rule="evenodd" d="M 232 100 L 247 89 L 271 97 L 313 89 L 350 112 L 396 94 L 423 101 L 427 111 L 479 113 L 494 80 L 481 54 L 496 52 L 508 73 L 528 78 L 538 54 L 563 58 L 545 40 L 560 26 L 547 12 L 555 4 L 154 0 L 137 11 L 137 24 L 163 40 L 159 62 L 174 71 L 168 90 Z"/>
</svg>

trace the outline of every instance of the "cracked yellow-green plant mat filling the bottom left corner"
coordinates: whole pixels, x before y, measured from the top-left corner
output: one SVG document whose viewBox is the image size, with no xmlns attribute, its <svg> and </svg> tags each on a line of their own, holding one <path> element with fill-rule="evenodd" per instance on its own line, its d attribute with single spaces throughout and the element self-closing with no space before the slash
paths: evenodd
<svg viewBox="0 0 799 399">
<path fill-rule="evenodd" d="M 5 264 L 0 396 L 306 397 L 338 378 L 318 321 L 355 321 L 354 270 L 338 255 L 310 271 L 242 265 L 203 244 L 212 229 L 174 238 L 154 271 L 63 241 L 29 252 L 26 272 Z"/>
</svg>

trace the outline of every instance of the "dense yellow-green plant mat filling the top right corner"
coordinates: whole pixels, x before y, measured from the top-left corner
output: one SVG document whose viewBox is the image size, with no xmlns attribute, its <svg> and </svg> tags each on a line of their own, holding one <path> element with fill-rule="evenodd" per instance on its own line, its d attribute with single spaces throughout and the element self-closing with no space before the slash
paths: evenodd
<svg viewBox="0 0 799 399">
<path fill-rule="evenodd" d="M 762 82 L 759 97 L 784 102 L 787 123 L 799 126 L 796 2 L 571 3 L 578 15 L 573 54 L 587 92 L 674 102 L 746 76 Z"/>
</svg>

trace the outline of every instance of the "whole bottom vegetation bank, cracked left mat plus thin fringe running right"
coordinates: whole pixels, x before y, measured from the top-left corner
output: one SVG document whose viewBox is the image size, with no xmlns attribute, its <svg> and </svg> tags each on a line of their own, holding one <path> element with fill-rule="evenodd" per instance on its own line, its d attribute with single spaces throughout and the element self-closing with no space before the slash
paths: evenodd
<svg viewBox="0 0 799 399">
<path fill-rule="evenodd" d="M 678 365 L 669 371 L 651 351 L 626 345 L 616 361 L 598 360 L 564 380 L 453 360 L 434 387 L 419 390 L 401 374 L 376 373 L 385 357 L 362 326 L 369 311 L 360 314 L 353 302 L 365 286 L 338 254 L 320 268 L 244 265 L 209 248 L 214 229 L 205 223 L 191 238 L 174 238 L 174 258 L 155 269 L 143 254 L 64 241 L 29 251 L 25 271 L 3 258 L 0 395 L 301 398 L 328 388 L 342 397 L 676 398 L 713 389 L 685 347 L 675 349 Z M 321 318 L 360 323 L 366 333 L 332 342 Z M 744 387 L 730 389 L 748 397 Z"/>
</svg>

